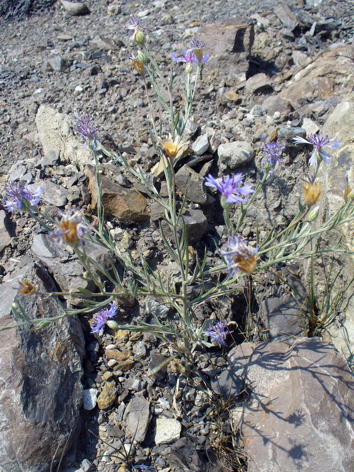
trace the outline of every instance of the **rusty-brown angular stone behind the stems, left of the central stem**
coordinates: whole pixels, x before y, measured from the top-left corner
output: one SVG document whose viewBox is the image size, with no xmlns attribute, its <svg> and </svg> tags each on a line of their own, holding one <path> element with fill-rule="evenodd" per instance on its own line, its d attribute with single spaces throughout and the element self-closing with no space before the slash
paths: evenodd
<svg viewBox="0 0 354 472">
<path fill-rule="evenodd" d="M 89 169 L 86 171 L 89 177 L 89 190 L 92 195 L 92 206 L 97 204 L 96 173 Z M 123 221 L 144 221 L 149 219 L 147 201 L 134 189 L 127 189 L 116 184 L 105 176 L 100 176 L 102 186 L 102 205 L 105 213 L 117 217 Z"/>
</svg>

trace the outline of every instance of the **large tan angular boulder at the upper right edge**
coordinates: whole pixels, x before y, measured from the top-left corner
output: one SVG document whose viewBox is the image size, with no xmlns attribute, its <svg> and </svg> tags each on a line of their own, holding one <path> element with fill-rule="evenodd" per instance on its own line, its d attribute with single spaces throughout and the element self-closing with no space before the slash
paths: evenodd
<svg viewBox="0 0 354 472">
<path fill-rule="evenodd" d="M 353 56 L 353 45 L 319 53 L 294 75 L 280 95 L 298 106 L 299 100 L 324 100 L 350 92 L 354 88 L 354 63 L 350 59 Z"/>
</svg>

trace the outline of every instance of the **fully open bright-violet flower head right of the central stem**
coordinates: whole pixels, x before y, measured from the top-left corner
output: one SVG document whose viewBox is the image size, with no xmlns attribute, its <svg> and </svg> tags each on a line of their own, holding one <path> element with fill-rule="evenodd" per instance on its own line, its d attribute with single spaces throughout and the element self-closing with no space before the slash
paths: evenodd
<svg viewBox="0 0 354 472">
<path fill-rule="evenodd" d="M 243 195 L 249 195 L 254 192 L 252 189 L 252 184 L 246 184 L 240 186 L 240 183 L 243 181 L 244 176 L 240 174 L 235 174 L 233 177 L 222 176 L 218 179 L 214 179 L 210 174 L 205 177 L 206 184 L 209 187 L 215 187 L 221 194 L 222 205 L 232 204 L 238 202 L 246 203 L 248 200 L 243 198 Z"/>
</svg>

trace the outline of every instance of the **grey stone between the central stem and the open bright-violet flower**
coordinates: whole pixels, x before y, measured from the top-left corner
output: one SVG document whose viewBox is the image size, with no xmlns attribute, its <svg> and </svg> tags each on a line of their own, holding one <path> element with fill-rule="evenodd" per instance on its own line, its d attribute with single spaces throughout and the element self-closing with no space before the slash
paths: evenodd
<svg viewBox="0 0 354 472">
<path fill-rule="evenodd" d="M 204 179 L 189 165 L 184 165 L 175 174 L 176 187 L 194 203 L 206 203 L 207 192 Z"/>
</svg>

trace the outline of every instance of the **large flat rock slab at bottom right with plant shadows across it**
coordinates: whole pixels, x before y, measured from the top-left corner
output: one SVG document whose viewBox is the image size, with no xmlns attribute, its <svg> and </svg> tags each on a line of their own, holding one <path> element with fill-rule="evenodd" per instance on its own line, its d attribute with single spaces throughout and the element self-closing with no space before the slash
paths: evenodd
<svg viewBox="0 0 354 472">
<path fill-rule="evenodd" d="M 354 378 L 330 343 L 244 342 L 230 362 L 250 394 L 233 412 L 248 472 L 354 470 Z"/>
</svg>

